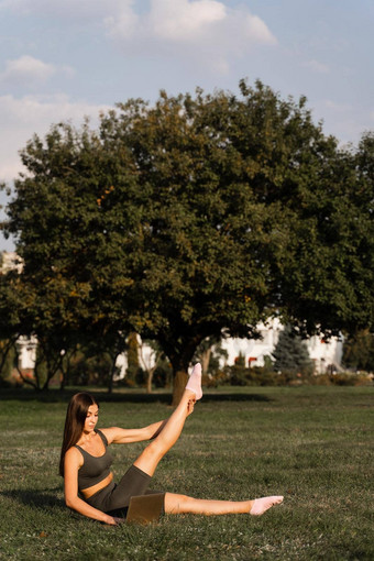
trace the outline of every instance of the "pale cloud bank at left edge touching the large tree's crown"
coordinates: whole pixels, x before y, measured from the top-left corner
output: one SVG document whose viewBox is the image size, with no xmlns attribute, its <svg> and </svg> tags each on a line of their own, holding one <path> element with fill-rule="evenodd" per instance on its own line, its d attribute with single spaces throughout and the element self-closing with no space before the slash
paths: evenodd
<svg viewBox="0 0 374 561">
<path fill-rule="evenodd" d="M 73 102 L 67 96 L 13 96 L 0 97 L 0 180 L 12 180 L 22 164 L 19 151 L 34 133 L 43 136 L 52 123 L 70 121 L 82 122 L 85 116 L 97 123 L 100 111 L 112 109 L 110 106 L 89 105 L 84 101 Z"/>
</svg>

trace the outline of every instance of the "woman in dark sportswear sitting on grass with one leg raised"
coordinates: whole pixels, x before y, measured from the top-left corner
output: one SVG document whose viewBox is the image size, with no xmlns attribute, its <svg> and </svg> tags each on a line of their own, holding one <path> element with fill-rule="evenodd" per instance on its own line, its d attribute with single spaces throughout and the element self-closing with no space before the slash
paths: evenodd
<svg viewBox="0 0 374 561">
<path fill-rule="evenodd" d="M 128 520 L 148 521 L 158 518 L 162 513 L 249 513 L 258 516 L 282 503 L 282 496 L 242 502 L 205 501 L 147 488 L 160 460 L 177 441 L 186 418 L 201 397 L 201 366 L 196 364 L 180 403 L 167 421 L 142 429 L 112 427 L 96 430 L 99 406 L 95 398 L 87 393 L 73 396 L 66 415 L 59 463 L 66 505 L 95 520 L 117 525 L 125 517 Z M 117 485 L 110 471 L 112 458 L 107 447 L 142 440 L 152 442 Z"/>
</svg>

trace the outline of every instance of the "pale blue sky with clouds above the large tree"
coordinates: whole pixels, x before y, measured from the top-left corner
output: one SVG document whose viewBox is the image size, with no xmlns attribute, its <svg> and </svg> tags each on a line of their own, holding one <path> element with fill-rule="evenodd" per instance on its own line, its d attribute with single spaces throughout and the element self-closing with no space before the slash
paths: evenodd
<svg viewBox="0 0 374 561">
<path fill-rule="evenodd" d="M 241 78 L 306 95 L 326 133 L 356 144 L 374 129 L 373 29 L 373 0 L 0 0 L 0 180 L 52 123 Z"/>
</svg>

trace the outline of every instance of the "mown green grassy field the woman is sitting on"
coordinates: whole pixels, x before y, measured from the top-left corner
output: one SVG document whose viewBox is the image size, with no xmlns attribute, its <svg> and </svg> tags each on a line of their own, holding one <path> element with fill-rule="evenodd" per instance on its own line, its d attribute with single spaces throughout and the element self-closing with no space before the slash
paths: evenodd
<svg viewBox="0 0 374 561">
<path fill-rule="evenodd" d="M 57 463 L 68 393 L 1 391 L 0 559 L 373 560 L 374 388 L 207 392 L 154 488 L 202 498 L 285 495 L 262 517 L 165 516 L 107 527 L 63 503 Z M 170 414 L 168 396 L 100 394 L 99 427 Z M 144 444 L 112 447 L 120 477 Z"/>
</svg>

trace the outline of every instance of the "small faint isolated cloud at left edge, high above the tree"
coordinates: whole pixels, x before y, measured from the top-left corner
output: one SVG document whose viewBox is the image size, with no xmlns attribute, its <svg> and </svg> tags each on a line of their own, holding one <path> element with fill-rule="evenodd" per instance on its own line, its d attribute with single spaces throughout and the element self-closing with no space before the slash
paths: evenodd
<svg viewBox="0 0 374 561">
<path fill-rule="evenodd" d="M 43 63 L 33 56 L 24 55 L 15 61 L 7 61 L 0 81 L 7 84 L 40 84 L 46 81 L 56 72 L 52 64 Z"/>
</svg>

